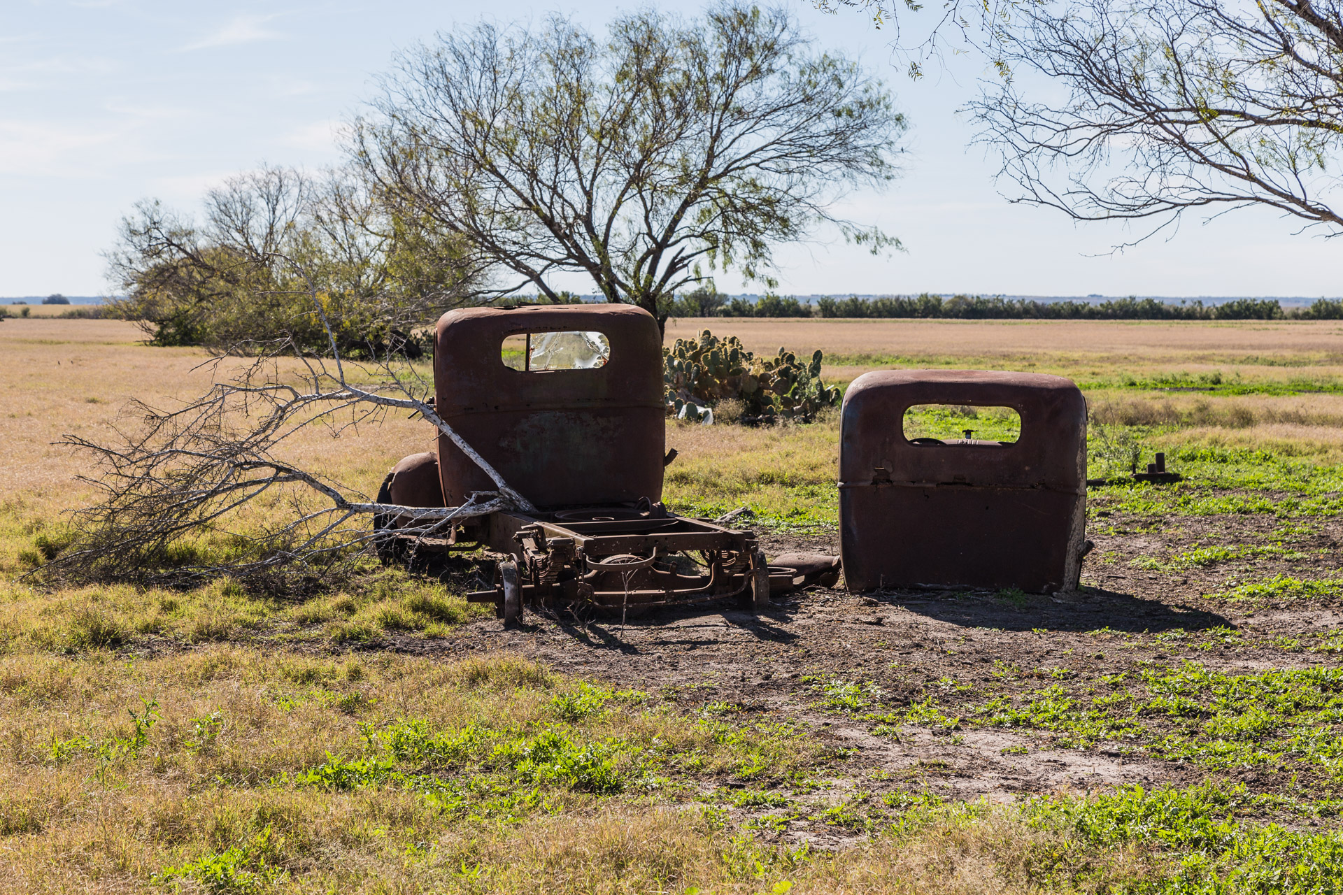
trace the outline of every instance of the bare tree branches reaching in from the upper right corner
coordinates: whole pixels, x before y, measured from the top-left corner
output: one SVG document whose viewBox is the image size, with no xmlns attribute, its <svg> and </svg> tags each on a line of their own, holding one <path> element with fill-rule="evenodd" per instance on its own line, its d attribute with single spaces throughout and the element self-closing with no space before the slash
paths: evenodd
<svg viewBox="0 0 1343 895">
<path fill-rule="evenodd" d="M 1068 95 L 1031 102 L 1011 78 L 974 103 L 1015 201 L 1152 220 L 1147 236 L 1256 205 L 1343 233 L 1339 0 L 1085 0 L 1019 23 L 1009 63 Z"/>
</svg>

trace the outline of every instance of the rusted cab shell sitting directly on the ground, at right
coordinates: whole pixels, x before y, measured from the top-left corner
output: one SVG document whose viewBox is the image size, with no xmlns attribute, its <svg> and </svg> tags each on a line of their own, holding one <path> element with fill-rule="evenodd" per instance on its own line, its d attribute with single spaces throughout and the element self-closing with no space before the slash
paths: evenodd
<svg viewBox="0 0 1343 895">
<path fill-rule="evenodd" d="M 1009 407 L 1015 443 L 904 436 L 919 404 Z M 881 370 L 845 394 L 839 542 L 850 590 L 1077 588 L 1086 515 L 1086 403 L 1062 377 Z"/>
</svg>

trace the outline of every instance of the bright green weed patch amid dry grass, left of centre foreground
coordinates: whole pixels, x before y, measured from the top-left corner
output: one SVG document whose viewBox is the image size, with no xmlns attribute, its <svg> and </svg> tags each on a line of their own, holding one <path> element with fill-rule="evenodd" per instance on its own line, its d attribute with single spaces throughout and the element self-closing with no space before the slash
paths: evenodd
<svg viewBox="0 0 1343 895">
<path fill-rule="evenodd" d="M 641 691 L 577 682 L 549 696 L 541 717 L 522 723 L 363 723 L 364 754 L 328 753 L 325 761 L 274 782 L 324 792 L 392 786 L 422 793 L 457 816 L 518 819 L 555 810 L 572 793 L 674 794 L 685 790 L 688 774 L 779 781 L 799 759 L 804 766 L 819 758 L 791 723 L 733 725 L 713 713 L 690 721 L 661 708 L 638 710 L 647 699 Z M 616 706 L 622 717 L 638 711 L 638 721 L 612 727 Z"/>
</svg>

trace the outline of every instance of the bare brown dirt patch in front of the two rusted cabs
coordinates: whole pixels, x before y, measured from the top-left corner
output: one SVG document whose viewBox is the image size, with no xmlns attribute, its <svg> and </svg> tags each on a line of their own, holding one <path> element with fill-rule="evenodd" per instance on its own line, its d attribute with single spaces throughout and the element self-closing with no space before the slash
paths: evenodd
<svg viewBox="0 0 1343 895">
<path fill-rule="evenodd" d="M 1096 549 L 1084 565 L 1078 593 L 1031 596 L 990 592 L 892 590 L 850 594 L 811 588 L 776 598 L 760 616 L 733 608 L 661 611 L 590 625 L 565 617 L 526 616 L 518 629 L 497 620 L 471 625 L 446 641 L 398 640 L 384 648 L 467 655 L 509 651 L 557 671 L 619 687 L 658 692 L 686 707 L 727 703 L 760 718 L 790 719 L 810 729 L 849 759 L 826 781 L 823 804 L 855 794 L 924 790 L 948 798 L 1010 801 L 1022 796 L 1086 792 L 1139 784 L 1187 785 L 1206 773 L 1170 761 L 1099 747 L 1054 747 L 1049 737 L 976 726 L 939 729 L 901 725 L 873 733 L 864 713 L 835 713 L 822 704 L 827 680 L 862 682 L 880 696 L 865 713 L 882 713 L 927 699 L 970 706 L 1001 692 L 1003 670 L 1050 683 L 1095 683 L 1139 667 L 1185 660 L 1228 674 L 1338 663 L 1316 653 L 1284 652 L 1284 636 L 1303 637 L 1343 623 L 1343 609 L 1313 601 L 1245 605 L 1202 597 L 1241 570 L 1237 561 L 1180 572 L 1135 568 L 1132 561 L 1167 556 L 1191 542 L 1246 543 L 1272 525 L 1253 517 L 1180 519 L 1168 531 L 1135 531 L 1142 521 L 1108 517 L 1091 537 Z M 1148 523 L 1148 527 L 1150 523 Z M 1296 545 L 1316 547 L 1307 560 L 1256 557 L 1257 573 L 1283 568 L 1305 574 L 1305 565 L 1336 560 L 1339 523 L 1330 522 Z M 837 551 L 834 538 L 763 537 L 770 556 L 786 550 Z M 1324 550 L 1320 553 L 1319 550 Z M 1228 645 L 1199 632 L 1230 632 Z M 1175 633 L 1176 637 L 1162 635 Z M 1223 637 L 1225 639 L 1225 637 Z M 821 682 L 821 683 L 818 683 Z M 1025 684 L 1022 684 L 1025 686 Z M 1225 774 L 1222 774 L 1225 777 Z M 1254 789 L 1276 790 L 1285 780 L 1246 772 Z M 767 813 L 768 809 L 735 809 Z M 794 823 L 786 837 L 821 844 L 843 836 L 833 825 Z"/>
</svg>

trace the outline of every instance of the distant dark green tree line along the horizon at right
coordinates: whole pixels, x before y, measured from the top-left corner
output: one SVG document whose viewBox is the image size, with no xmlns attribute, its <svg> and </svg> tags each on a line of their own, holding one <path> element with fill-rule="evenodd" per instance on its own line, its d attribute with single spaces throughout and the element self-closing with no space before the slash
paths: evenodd
<svg viewBox="0 0 1343 895">
<path fill-rule="evenodd" d="M 1272 298 L 1237 298 L 1221 305 L 1202 301 L 1167 305 L 1155 298 L 1104 302 L 1037 302 L 999 295 L 884 295 L 819 298 L 815 305 L 794 297 L 764 295 L 751 302 L 710 288 L 678 295 L 670 317 L 857 317 L 923 319 L 1086 319 L 1086 321 L 1272 321 L 1343 319 L 1343 301 L 1322 298 L 1309 307 L 1284 309 Z"/>
</svg>

